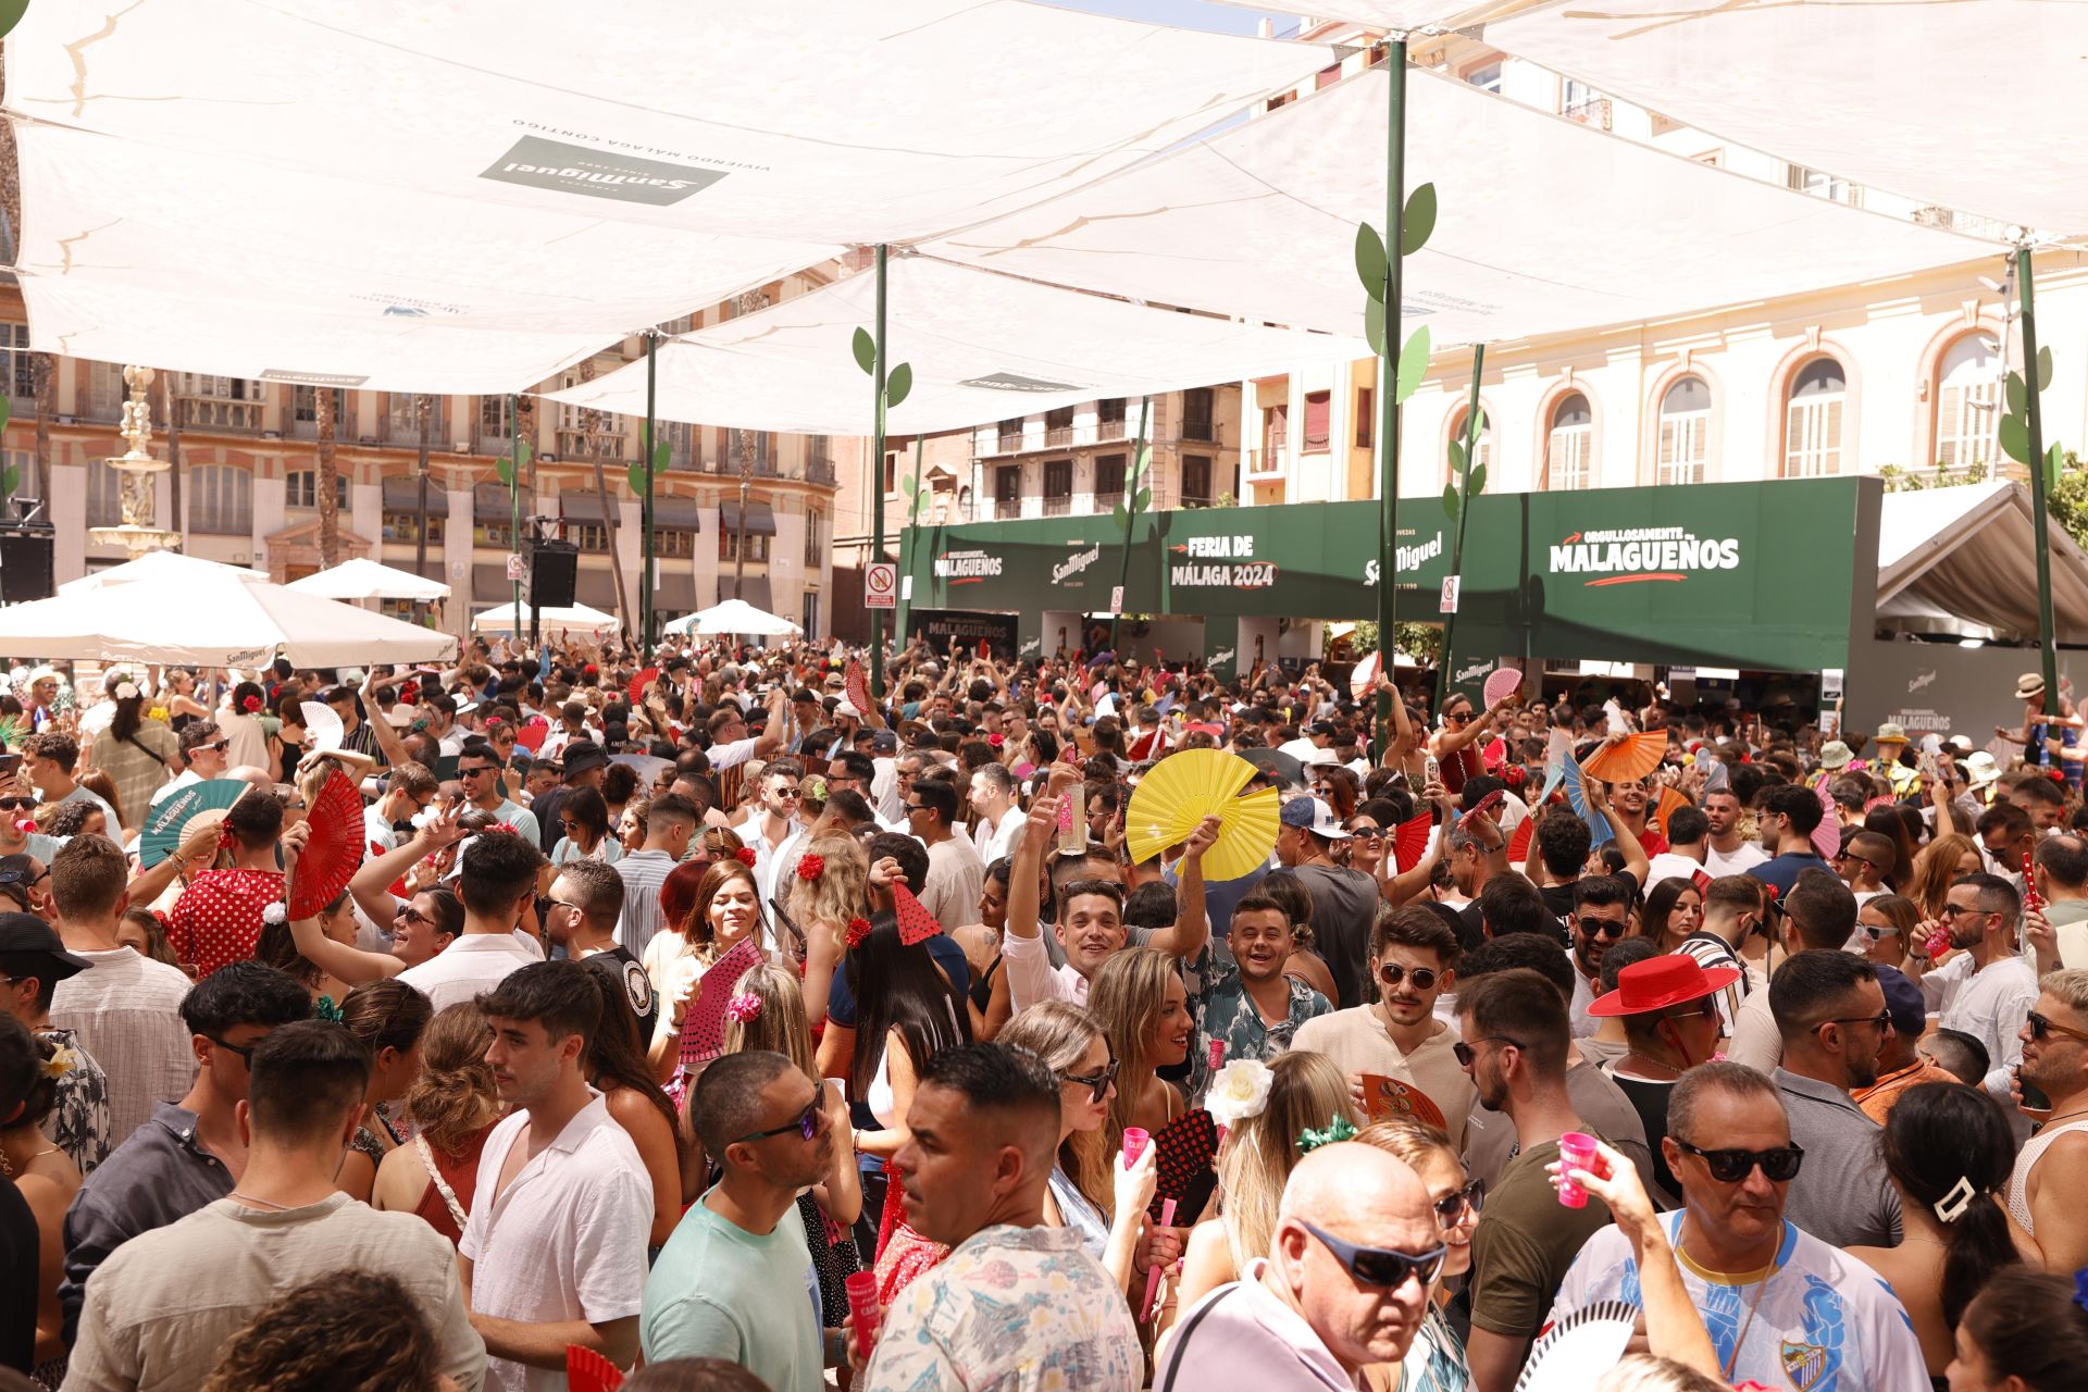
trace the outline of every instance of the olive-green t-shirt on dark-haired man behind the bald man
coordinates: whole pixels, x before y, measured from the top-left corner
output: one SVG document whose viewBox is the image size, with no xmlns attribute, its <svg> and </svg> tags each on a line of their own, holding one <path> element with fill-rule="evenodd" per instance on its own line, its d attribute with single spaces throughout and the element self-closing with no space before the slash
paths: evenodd
<svg viewBox="0 0 2088 1392">
<path fill-rule="evenodd" d="M 1537 1338 L 1581 1246 L 1610 1225 L 1610 1206 L 1587 1196 L 1568 1208 L 1545 1167 L 1560 1144 L 1524 1150 L 1487 1194 L 1487 1213 L 1472 1233 L 1472 1327 L 1505 1338 Z M 647 1288 L 649 1292 L 649 1288 Z"/>
</svg>

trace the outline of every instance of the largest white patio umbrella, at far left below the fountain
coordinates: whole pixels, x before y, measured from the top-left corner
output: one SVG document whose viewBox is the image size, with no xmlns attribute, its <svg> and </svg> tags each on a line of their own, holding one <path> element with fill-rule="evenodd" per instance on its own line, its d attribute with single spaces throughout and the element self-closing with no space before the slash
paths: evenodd
<svg viewBox="0 0 2088 1392">
<path fill-rule="evenodd" d="M 447 662 L 457 639 L 353 605 L 301 595 L 230 566 L 159 553 L 136 561 L 132 582 L 67 589 L 0 607 L 0 651 L 23 657 L 165 662 L 255 668 L 284 655 L 301 668 L 374 662 Z M 146 568 L 161 580 L 142 582 Z M 125 568 L 115 568 L 125 570 Z"/>
</svg>

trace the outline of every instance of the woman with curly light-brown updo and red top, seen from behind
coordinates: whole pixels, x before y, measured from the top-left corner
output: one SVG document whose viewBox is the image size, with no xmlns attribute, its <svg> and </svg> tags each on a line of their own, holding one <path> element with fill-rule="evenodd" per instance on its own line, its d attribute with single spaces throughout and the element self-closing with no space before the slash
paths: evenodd
<svg viewBox="0 0 2088 1392">
<path fill-rule="evenodd" d="M 420 1035 L 420 1077 L 405 1089 L 413 1139 L 384 1154 L 370 1206 L 411 1213 L 455 1246 L 478 1187 L 478 1152 L 501 1119 L 487 1062 L 493 1027 L 468 1000 L 445 1006 Z"/>
</svg>

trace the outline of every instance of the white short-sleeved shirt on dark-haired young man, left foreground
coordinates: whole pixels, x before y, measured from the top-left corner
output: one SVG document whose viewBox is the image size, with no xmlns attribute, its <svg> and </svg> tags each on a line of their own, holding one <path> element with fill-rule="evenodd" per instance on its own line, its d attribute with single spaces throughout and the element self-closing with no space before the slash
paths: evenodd
<svg viewBox="0 0 2088 1392">
<path fill-rule="evenodd" d="M 651 1177 L 608 1102 L 589 1094 L 589 1104 L 499 1198 L 507 1152 L 528 1144 L 528 1112 L 507 1117 L 487 1137 L 472 1217 L 457 1244 L 472 1263 L 472 1309 L 480 1315 L 599 1325 L 637 1315 L 643 1304 Z M 487 1388 L 566 1392 L 566 1369 L 489 1359 Z"/>
</svg>

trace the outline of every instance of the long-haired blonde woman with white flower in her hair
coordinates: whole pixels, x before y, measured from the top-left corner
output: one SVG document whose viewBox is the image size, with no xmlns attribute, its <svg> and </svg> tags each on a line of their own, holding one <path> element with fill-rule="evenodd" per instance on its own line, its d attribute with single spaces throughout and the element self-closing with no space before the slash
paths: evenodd
<svg viewBox="0 0 2088 1392">
<path fill-rule="evenodd" d="M 1234 1064 L 1244 1066 L 1244 1064 Z M 1267 1064 L 1267 1091 L 1253 1110 L 1232 1112 L 1226 1148 L 1217 1156 L 1217 1185 L 1224 1194 L 1217 1217 L 1190 1229 L 1182 1256 L 1176 1309 L 1186 1311 L 1207 1294 L 1234 1281 L 1247 1265 L 1270 1254 L 1276 1210 L 1284 1183 L 1297 1169 L 1299 1139 L 1307 1131 L 1332 1129 L 1338 1121 L 1353 1135 L 1357 1112 L 1349 1079 L 1326 1054 L 1292 1050 Z"/>
</svg>

